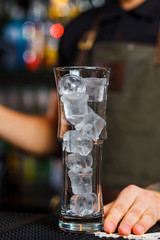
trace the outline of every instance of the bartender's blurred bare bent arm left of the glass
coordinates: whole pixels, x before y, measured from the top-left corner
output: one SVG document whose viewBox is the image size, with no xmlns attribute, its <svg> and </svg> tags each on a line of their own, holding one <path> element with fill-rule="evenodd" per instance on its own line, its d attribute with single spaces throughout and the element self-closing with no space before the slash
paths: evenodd
<svg viewBox="0 0 160 240">
<path fill-rule="evenodd" d="M 43 116 L 22 114 L 0 105 L 0 138 L 37 154 L 55 153 L 59 146 L 56 91 L 52 92 Z"/>
</svg>

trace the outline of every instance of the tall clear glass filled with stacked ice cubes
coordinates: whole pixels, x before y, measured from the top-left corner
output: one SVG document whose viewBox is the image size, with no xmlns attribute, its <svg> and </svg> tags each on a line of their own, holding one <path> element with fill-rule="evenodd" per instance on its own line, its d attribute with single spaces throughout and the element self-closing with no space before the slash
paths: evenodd
<svg viewBox="0 0 160 240">
<path fill-rule="evenodd" d="M 54 74 L 64 166 L 59 227 L 74 232 L 100 231 L 104 219 L 100 169 L 110 69 L 57 67 Z"/>
</svg>

